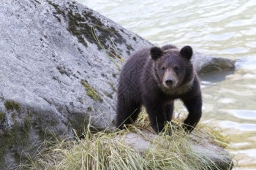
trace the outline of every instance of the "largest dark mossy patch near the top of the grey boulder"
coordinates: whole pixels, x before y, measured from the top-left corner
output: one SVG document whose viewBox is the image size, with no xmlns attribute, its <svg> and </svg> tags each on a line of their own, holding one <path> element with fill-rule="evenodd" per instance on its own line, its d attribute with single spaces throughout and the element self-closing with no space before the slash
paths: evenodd
<svg viewBox="0 0 256 170">
<path fill-rule="evenodd" d="M 84 47 L 89 47 L 89 43 L 91 43 L 97 45 L 98 50 L 105 50 L 111 57 L 121 59 L 121 55 L 118 55 L 113 46 L 127 42 L 119 33 L 120 31 L 124 32 L 123 30 L 118 31 L 114 26 L 102 23 L 101 18 L 94 15 L 94 12 L 90 9 L 78 12 L 78 7 L 75 6 L 75 3 L 67 2 L 68 7 L 65 9 L 49 0 L 48 3 L 56 10 L 56 12 L 53 12 L 54 17 L 61 22 L 60 15 L 62 15 L 67 20 L 67 30 L 70 34 L 76 36 L 78 42 Z"/>
</svg>

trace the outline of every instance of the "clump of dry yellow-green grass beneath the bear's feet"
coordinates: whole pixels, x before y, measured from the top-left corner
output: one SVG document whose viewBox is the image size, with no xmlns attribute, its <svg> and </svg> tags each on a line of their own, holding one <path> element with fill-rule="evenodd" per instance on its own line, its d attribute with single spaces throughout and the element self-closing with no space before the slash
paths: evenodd
<svg viewBox="0 0 256 170">
<path fill-rule="evenodd" d="M 172 132 L 169 136 L 168 131 Z M 200 131 L 195 129 L 195 131 Z M 205 130 L 203 130 L 205 131 Z M 200 131 L 200 133 L 210 133 Z M 126 136 L 136 134 L 150 143 L 143 152 L 127 144 Z M 151 135 L 148 135 L 151 134 Z M 75 141 L 60 141 L 42 144 L 41 151 L 30 158 L 31 162 L 22 164 L 20 169 L 219 169 L 208 158 L 198 155 L 191 149 L 192 143 L 199 142 L 167 124 L 162 134 L 154 135 L 147 115 L 140 114 L 139 121 L 121 131 L 101 131 L 92 134 L 88 130 L 84 138 Z M 215 139 L 215 138 L 214 138 Z M 214 141 L 213 139 L 213 141 Z M 216 138 L 219 140 L 220 138 Z M 200 139 L 199 139 L 200 140 Z M 49 147 L 50 145 L 50 147 Z"/>
</svg>

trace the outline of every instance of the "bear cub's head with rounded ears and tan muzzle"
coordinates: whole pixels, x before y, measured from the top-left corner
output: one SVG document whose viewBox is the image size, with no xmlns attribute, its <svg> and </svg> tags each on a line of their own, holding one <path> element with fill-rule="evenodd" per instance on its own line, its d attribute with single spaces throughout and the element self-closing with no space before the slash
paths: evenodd
<svg viewBox="0 0 256 170">
<path fill-rule="evenodd" d="M 195 76 L 190 61 L 193 54 L 192 47 L 185 46 L 181 50 L 174 46 L 151 47 L 150 53 L 153 59 L 154 79 L 162 90 L 178 90 L 191 84 Z"/>
</svg>

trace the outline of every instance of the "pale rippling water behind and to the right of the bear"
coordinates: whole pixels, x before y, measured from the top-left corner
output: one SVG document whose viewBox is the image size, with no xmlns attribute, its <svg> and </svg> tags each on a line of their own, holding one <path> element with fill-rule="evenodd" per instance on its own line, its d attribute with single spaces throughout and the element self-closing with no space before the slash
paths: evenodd
<svg viewBox="0 0 256 170">
<path fill-rule="evenodd" d="M 156 45 L 236 59 L 234 74 L 200 77 L 202 121 L 230 139 L 236 169 L 256 169 L 256 1 L 79 1 Z"/>
</svg>

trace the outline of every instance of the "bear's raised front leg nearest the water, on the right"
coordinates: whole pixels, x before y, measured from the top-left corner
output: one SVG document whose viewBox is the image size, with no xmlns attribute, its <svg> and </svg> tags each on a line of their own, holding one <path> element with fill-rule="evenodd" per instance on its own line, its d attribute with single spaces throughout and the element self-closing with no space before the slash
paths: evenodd
<svg viewBox="0 0 256 170">
<path fill-rule="evenodd" d="M 201 95 L 197 95 L 194 98 L 189 98 L 189 100 L 182 101 L 189 111 L 187 119 L 184 120 L 184 129 L 191 132 L 202 116 L 202 97 Z"/>
</svg>

